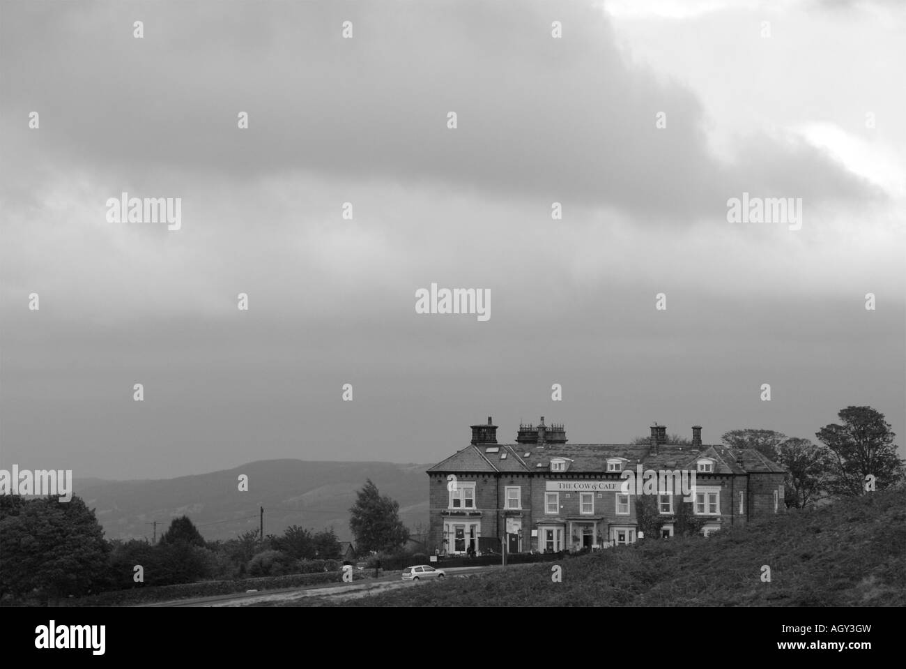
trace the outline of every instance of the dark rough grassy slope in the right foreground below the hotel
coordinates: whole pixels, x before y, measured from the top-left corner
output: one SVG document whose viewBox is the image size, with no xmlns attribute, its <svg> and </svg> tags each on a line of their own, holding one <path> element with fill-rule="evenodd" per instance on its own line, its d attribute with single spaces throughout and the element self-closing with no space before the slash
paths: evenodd
<svg viewBox="0 0 906 669">
<path fill-rule="evenodd" d="M 551 563 L 537 564 L 342 606 L 904 606 L 906 490 L 557 564 L 561 583 L 552 582 Z M 761 580 L 763 565 L 771 569 L 769 583 Z"/>
</svg>

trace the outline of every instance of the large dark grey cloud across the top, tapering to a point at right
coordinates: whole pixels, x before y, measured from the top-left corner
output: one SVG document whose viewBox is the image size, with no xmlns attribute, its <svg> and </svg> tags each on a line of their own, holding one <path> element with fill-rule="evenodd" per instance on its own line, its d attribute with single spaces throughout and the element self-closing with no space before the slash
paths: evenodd
<svg viewBox="0 0 906 669">
<path fill-rule="evenodd" d="M 390 10 L 388 9 L 390 7 Z M 809 145 L 761 135 L 708 150 L 679 82 L 628 63 L 586 3 L 14 5 L 5 129 L 14 156 L 106 172 L 111 189 L 178 169 L 224 179 L 319 178 L 569 200 L 688 224 L 728 192 L 865 199 Z M 145 37 L 132 37 L 134 20 Z M 341 37 L 343 20 L 354 25 Z M 551 23 L 564 25 L 563 39 Z M 44 25 L 46 23 L 46 25 Z M 250 128 L 236 115 L 247 111 Z M 448 111 L 458 129 L 446 127 Z M 663 112 L 667 128 L 655 127 Z"/>
</svg>

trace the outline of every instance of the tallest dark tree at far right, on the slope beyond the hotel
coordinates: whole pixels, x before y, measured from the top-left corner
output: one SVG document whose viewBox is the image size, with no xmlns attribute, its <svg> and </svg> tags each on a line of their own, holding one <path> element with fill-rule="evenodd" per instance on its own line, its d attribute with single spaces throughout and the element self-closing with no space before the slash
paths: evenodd
<svg viewBox="0 0 906 669">
<path fill-rule="evenodd" d="M 874 477 L 876 490 L 885 490 L 903 478 L 903 461 L 893 443 L 896 436 L 884 414 L 870 406 L 848 406 L 837 413 L 843 424 L 831 423 L 815 432 L 833 453 L 828 490 L 836 495 L 866 492 L 865 480 Z"/>
</svg>

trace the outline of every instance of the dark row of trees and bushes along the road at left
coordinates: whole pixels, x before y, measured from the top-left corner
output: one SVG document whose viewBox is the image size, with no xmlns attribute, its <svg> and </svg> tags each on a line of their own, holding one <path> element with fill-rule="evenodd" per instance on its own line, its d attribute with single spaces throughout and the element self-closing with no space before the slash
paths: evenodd
<svg viewBox="0 0 906 669">
<path fill-rule="evenodd" d="M 291 526 L 206 541 L 188 517 L 173 519 L 156 544 L 108 540 L 84 500 L 0 496 L 0 600 L 53 601 L 130 587 L 336 571 L 333 528 Z"/>
</svg>

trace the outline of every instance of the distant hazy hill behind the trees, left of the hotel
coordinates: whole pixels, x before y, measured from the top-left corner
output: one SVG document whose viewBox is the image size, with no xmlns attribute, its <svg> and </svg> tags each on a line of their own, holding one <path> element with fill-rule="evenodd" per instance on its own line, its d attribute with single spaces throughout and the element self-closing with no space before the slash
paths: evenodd
<svg viewBox="0 0 906 669">
<path fill-rule="evenodd" d="M 350 540 L 349 509 L 366 479 L 400 502 L 400 518 L 407 527 L 427 524 L 425 470 L 430 466 L 268 460 L 178 479 L 77 479 L 74 494 L 96 510 L 107 538 L 150 538 L 154 520 L 159 536 L 170 519 L 184 514 L 204 538 L 233 538 L 258 528 L 258 509 L 263 506 L 265 534 L 280 534 L 289 525 L 333 525 L 337 537 Z M 248 476 L 248 492 L 239 492 L 239 474 Z"/>
</svg>

